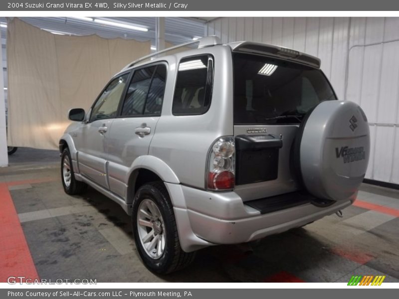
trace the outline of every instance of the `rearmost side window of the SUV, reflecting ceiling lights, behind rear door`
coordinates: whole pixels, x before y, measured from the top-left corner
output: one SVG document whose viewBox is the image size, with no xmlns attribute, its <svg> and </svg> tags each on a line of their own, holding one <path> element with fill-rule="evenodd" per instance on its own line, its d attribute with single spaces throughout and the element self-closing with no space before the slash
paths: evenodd
<svg viewBox="0 0 399 299">
<path fill-rule="evenodd" d="M 201 55 L 180 61 L 173 97 L 174 115 L 198 115 L 210 106 L 213 82 L 213 58 Z"/>
</svg>

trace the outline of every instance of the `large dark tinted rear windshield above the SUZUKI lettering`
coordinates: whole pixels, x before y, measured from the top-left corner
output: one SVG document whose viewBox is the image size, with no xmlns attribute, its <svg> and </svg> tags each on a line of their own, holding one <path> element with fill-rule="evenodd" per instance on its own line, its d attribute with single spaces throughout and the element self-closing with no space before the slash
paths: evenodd
<svg viewBox="0 0 399 299">
<path fill-rule="evenodd" d="M 324 100 L 336 100 L 319 69 L 248 54 L 233 54 L 234 124 L 298 124 Z"/>
</svg>

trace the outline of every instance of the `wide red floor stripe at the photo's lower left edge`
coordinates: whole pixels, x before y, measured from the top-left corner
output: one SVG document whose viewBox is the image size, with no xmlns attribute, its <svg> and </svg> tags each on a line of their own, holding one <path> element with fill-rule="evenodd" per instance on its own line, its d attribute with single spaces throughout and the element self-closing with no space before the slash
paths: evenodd
<svg viewBox="0 0 399 299">
<path fill-rule="evenodd" d="M 0 226 L 0 283 L 7 282 L 10 276 L 38 279 L 6 183 L 0 183 Z"/>
</svg>

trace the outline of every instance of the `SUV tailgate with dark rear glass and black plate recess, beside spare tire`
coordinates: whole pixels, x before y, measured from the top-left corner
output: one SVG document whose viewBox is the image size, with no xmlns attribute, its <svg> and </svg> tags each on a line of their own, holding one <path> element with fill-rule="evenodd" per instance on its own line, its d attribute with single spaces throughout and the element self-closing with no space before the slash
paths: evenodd
<svg viewBox="0 0 399 299">
<path fill-rule="evenodd" d="M 233 68 L 235 191 L 246 201 L 297 190 L 292 142 L 304 115 L 334 91 L 320 69 L 283 59 L 233 53 Z M 262 149 L 251 149 L 254 138 Z"/>
</svg>

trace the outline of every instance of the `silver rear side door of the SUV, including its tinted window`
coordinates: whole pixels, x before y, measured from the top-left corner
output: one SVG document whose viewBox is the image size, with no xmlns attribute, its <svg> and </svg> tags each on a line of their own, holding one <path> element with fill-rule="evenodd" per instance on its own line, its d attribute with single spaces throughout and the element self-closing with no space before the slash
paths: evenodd
<svg viewBox="0 0 399 299">
<path fill-rule="evenodd" d="M 127 177 L 134 160 L 147 155 L 161 116 L 167 74 L 165 63 L 134 70 L 121 115 L 110 132 L 108 176 L 110 190 L 126 198 Z"/>
</svg>

